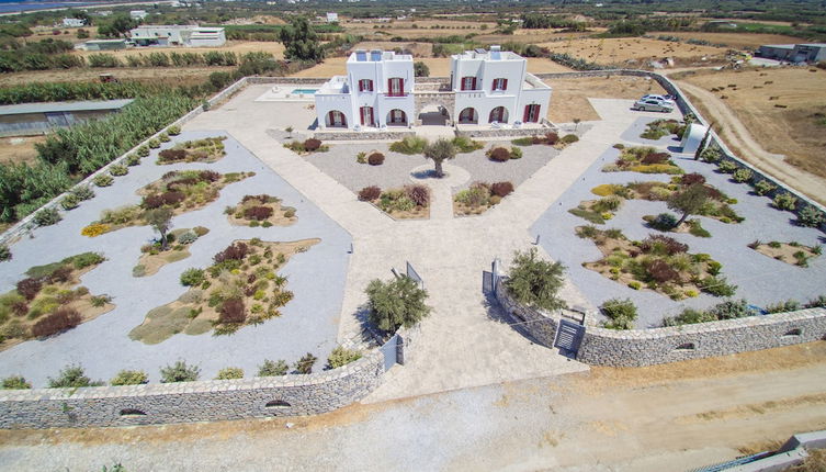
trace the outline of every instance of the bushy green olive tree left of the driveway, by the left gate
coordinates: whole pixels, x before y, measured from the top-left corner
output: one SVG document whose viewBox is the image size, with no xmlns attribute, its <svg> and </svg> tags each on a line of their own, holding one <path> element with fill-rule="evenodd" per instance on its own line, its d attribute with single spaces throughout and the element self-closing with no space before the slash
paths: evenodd
<svg viewBox="0 0 826 472">
<path fill-rule="evenodd" d="M 430 307 L 425 304 L 428 292 L 408 277 L 389 282 L 375 279 L 367 284 L 365 292 L 367 319 L 382 330 L 395 333 L 401 326 L 414 326 L 430 314 Z"/>
</svg>

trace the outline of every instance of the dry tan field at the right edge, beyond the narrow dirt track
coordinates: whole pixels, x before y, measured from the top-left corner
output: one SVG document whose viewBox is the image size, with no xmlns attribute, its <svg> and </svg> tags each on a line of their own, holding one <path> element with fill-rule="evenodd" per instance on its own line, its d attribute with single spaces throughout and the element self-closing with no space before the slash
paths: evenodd
<svg viewBox="0 0 826 472">
<path fill-rule="evenodd" d="M 788 162 L 826 177 L 826 70 L 703 70 L 682 80 L 705 90 L 723 88 L 715 95 L 725 97 L 724 102 L 763 149 L 785 155 Z"/>
</svg>

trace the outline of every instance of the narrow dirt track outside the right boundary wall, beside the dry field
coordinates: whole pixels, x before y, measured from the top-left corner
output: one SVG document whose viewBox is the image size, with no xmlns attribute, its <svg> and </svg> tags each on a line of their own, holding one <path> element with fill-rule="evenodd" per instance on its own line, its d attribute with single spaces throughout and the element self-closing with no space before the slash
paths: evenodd
<svg viewBox="0 0 826 472">
<path fill-rule="evenodd" d="M 676 80 L 683 92 L 706 120 L 714 123 L 714 128 L 725 139 L 728 147 L 740 158 L 782 180 L 810 198 L 826 204 L 826 179 L 800 170 L 783 160 L 782 155 L 763 149 L 749 133 L 737 115 L 714 93 L 684 80 Z"/>
</svg>

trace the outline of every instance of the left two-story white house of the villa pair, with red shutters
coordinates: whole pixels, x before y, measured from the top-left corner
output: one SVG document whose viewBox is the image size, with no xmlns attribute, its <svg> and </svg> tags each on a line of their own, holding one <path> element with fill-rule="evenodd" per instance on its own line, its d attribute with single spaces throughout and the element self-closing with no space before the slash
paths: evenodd
<svg viewBox="0 0 826 472">
<path fill-rule="evenodd" d="M 315 93 L 320 130 L 407 126 L 414 113 L 412 56 L 357 50 L 347 76 L 335 76 Z"/>
</svg>

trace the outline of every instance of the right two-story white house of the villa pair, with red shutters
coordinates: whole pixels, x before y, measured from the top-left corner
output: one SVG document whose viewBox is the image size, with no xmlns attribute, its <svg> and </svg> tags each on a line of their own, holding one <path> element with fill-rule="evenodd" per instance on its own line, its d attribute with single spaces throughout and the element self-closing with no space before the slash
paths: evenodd
<svg viewBox="0 0 826 472">
<path fill-rule="evenodd" d="M 541 123 L 551 102 L 551 87 L 528 72 L 528 60 L 499 46 L 451 56 L 451 90 L 459 124 Z"/>
</svg>

